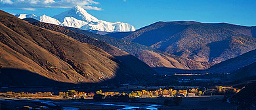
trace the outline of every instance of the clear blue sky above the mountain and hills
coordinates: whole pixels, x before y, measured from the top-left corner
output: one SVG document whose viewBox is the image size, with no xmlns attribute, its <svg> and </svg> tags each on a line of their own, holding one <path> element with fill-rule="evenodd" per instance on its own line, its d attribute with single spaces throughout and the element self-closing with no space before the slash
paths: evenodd
<svg viewBox="0 0 256 110">
<path fill-rule="evenodd" d="M 8 4 L 10 1 L 12 3 Z M 24 0 L 0 0 L 0 9 L 12 14 L 54 16 L 74 5 L 83 5 L 99 20 L 127 22 L 137 29 L 158 21 L 177 20 L 256 26 L 255 0 L 41 0 L 40 5 L 23 3 L 21 6 L 20 3 L 15 5 L 17 1 Z M 52 1 L 54 5 L 46 4 Z"/>
</svg>

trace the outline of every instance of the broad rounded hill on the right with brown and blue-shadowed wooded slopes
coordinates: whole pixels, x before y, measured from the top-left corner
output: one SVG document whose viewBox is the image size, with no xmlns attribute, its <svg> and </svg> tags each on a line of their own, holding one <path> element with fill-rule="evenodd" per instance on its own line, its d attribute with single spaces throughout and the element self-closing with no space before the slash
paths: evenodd
<svg viewBox="0 0 256 110">
<path fill-rule="evenodd" d="M 156 22 L 122 39 L 215 64 L 256 49 L 255 29 L 232 24 Z"/>
</svg>

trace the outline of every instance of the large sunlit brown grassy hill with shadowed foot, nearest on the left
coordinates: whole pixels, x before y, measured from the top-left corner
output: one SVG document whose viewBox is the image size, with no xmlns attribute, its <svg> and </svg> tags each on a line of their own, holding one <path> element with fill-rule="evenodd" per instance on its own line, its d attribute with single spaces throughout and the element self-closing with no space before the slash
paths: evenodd
<svg viewBox="0 0 256 110">
<path fill-rule="evenodd" d="M 33 26 L 2 10 L 0 28 L 2 86 L 144 82 L 150 77 L 150 73 L 137 73 L 96 46 Z"/>
</svg>

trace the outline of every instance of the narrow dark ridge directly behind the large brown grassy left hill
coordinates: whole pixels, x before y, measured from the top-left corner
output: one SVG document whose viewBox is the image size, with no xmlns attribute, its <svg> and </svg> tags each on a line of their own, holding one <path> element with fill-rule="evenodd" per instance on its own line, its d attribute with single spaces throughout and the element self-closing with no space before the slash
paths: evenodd
<svg viewBox="0 0 256 110">
<path fill-rule="evenodd" d="M 77 41 L 80 41 L 81 43 L 88 43 L 91 45 L 95 45 L 98 48 L 101 48 L 102 50 L 108 52 L 112 56 L 116 58 L 116 62 L 121 64 L 121 66 L 124 66 L 126 68 L 131 69 L 133 73 L 137 74 L 150 74 L 154 75 L 156 72 L 150 68 L 148 65 L 144 64 L 144 62 L 140 61 L 138 58 L 135 58 L 135 56 L 132 56 L 128 54 L 127 52 L 120 50 L 119 48 L 116 48 L 115 46 L 109 45 L 108 43 L 105 43 L 103 41 L 99 41 L 97 39 L 92 38 L 90 35 L 84 35 L 81 33 L 77 33 L 75 31 L 72 31 L 70 29 L 66 29 L 62 26 L 57 26 L 54 24 L 47 24 L 43 22 L 30 22 L 31 24 L 39 27 L 43 27 L 45 29 L 51 29 L 53 31 L 58 31 L 60 33 L 63 33 L 65 35 L 68 35 L 69 37 L 74 38 Z M 91 33 L 92 35 L 95 33 Z M 120 65 L 119 65 L 120 66 Z"/>
</svg>

